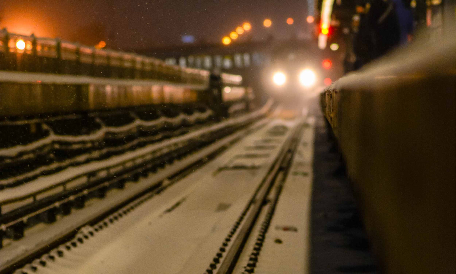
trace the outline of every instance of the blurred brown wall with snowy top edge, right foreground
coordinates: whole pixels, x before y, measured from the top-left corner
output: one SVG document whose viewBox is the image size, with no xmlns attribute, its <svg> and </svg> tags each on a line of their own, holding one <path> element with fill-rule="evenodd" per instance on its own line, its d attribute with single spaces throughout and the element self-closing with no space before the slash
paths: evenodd
<svg viewBox="0 0 456 274">
<path fill-rule="evenodd" d="M 322 95 L 385 273 L 456 272 L 456 46 L 415 42 Z"/>
</svg>

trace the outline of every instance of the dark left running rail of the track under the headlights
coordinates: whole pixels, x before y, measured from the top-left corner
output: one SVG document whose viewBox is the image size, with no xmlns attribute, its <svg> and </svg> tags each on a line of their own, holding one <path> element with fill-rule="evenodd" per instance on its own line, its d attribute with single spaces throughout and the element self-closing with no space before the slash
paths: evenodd
<svg viewBox="0 0 456 274">
<path fill-rule="evenodd" d="M 268 111 L 270 107 L 270 104 L 265 106 L 262 110 L 252 113 L 251 115 L 248 115 L 247 117 L 240 117 L 239 119 L 233 119 L 237 121 L 230 121 L 229 124 L 235 124 L 235 122 L 240 122 L 240 123 L 245 123 L 248 122 L 249 120 L 260 118 L 263 116 L 266 111 Z M 218 139 L 216 142 L 210 144 L 207 147 L 204 147 L 201 149 L 201 151 L 196 152 L 195 154 L 184 158 L 180 162 L 176 162 L 171 166 L 171 168 L 164 169 L 162 173 L 157 173 L 154 175 L 154 181 L 156 181 L 156 178 L 159 178 L 157 180 L 160 180 L 160 182 L 148 182 L 147 185 L 142 186 L 142 188 L 145 188 L 143 191 L 140 193 L 135 194 L 134 196 L 130 197 L 127 200 L 119 201 L 115 207 L 112 207 L 109 209 L 109 211 L 104 211 L 101 213 L 98 212 L 91 212 L 89 216 L 82 218 L 79 220 L 78 224 L 73 224 L 71 228 L 68 228 L 65 233 L 59 233 L 58 238 L 52 238 L 52 239 L 44 239 L 42 240 L 37 246 L 30 248 L 22 251 L 15 251 L 14 253 L 17 254 L 16 257 L 11 257 L 9 256 L 8 258 L 3 257 L 0 259 L 1 261 L 1 270 L 0 273 L 10 273 L 14 271 L 14 269 L 17 269 L 18 267 L 22 267 L 26 263 L 30 263 L 32 260 L 33 262 L 41 265 L 45 265 L 46 262 L 43 261 L 42 259 L 35 259 L 41 256 L 42 254 L 45 254 L 46 252 L 49 252 L 51 249 L 56 248 L 59 244 L 62 244 L 62 242 L 66 242 L 68 239 L 71 239 L 75 237 L 75 241 L 79 243 L 83 243 L 85 239 L 88 239 L 88 236 L 85 235 L 85 233 L 91 233 L 93 236 L 93 232 L 88 232 L 87 227 L 92 226 L 95 223 L 100 222 L 102 225 L 103 223 L 108 222 L 113 223 L 113 221 L 120 219 L 123 215 L 127 214 L 130 212 L 130 210 L 134 209 L 135 207 L 139 206 L 141 203 L 146 201 L 147 199 L 150 199 L 154 195 L 161 193 L 164 191 L 166 188 L 169 186 L 173 185 L 175 182 L 180 180 L 182 177 L 187 176 L 187 174 L 192 173 L 195 171 L 195 169 L 201 165 L 203 165 L 205 162 L 207 162 L 208 159 L 212 159 L 216 157 L 220 152 L 224 151 L 227 147 L 232 145 L 233 143 L 237 142 L 238 140 L 242 139 L 246 135 L 249 135 L 251 132 L 257 131 L 259 128 L 262 128 L 265 124 L 267 124 L 268 119 L 262 119 L 254 125 L 247 127 L 245 129 L 242 129 L 234 134 L 228 135 L 224 132 L 221 132 L 222 135 L 219 136 L 220 139 Z M 228 122 L 228 121 L 227 121 Z M 213 136 L 214 134 L 211 134 Z M 220 134 L 218 134 L 220 135 Z M 228 136 L 227 136 L 228 135 Z M 176 167 L 174 167 L 176 166 Z M 152 193 L 150 193 L 152 191 Z M 103 210 L 103 208 L 101 209 Z M 95 210 L 96 211 L 96 210 Z M 89 225 L 89 226 L 88 226 Z M 107 225 L 107 223 L 105 224 Z M 99 228 L 100 230 L 102 228 Z M 98 231 L 98 228 L 94 227 L 95 231 Z M 91 229 L 92 231 L 92 229 Z M 81 234 L 82 233 L 82 234 Z M 84 234 L 84 235 L 83 235 Z M 73 244 L 70 244 L 71 246 L 76 246 Z M 45 255 L 44 257 L 49 257 L 50 259 L 54 257 L 62 257 L 61 251 L 54 249 L 53 252 L 51 251 L 51 254 Z M 5 254 L 4 254 L 5 255 Z M 46 260 L 46 259 L 45 259 Z M 33 266 L 32 266 L 33 268 Z"/>
</svg>

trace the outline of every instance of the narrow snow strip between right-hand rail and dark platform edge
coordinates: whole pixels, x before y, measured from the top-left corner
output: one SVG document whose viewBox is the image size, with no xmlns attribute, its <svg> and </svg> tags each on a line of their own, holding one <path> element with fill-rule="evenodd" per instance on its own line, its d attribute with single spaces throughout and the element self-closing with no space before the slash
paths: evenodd
<svg viewBox="0 0 456 274">
<path fill-rule="evenodd" d="M 309 273 L 313 117 L 307 119 L 290 172 L 266 233 L 255 273 Z M 296 230 L 296 231 L 295 231 Z M 281 244 L 275 242 L 280 239 Z"/>
</svg>

